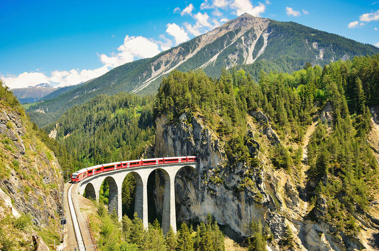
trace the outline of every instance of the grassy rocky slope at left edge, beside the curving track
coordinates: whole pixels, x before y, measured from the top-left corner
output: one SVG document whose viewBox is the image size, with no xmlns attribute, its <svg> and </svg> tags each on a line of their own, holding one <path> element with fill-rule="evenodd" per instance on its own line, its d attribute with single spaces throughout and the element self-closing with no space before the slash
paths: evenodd
<svg viewBox="0 0 379 251">
<path fill-rule="evenodd" d="M 16 98 L 0 90 L 0 249 L 53 249 L 61 239 L 60 165 Z"/>
</svg>

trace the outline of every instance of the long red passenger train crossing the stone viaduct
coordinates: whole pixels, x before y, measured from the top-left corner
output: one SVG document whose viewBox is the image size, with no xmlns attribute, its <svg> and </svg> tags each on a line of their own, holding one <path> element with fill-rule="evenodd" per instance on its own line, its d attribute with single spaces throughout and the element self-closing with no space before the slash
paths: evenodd
<svg viewBox="0 0 379 251">
<path fill-rule="evenodd" d="M 90 177 L 92 175 L 103 173 L 106 171 L 121 169 L 121 168 L 132 168 L 138 166 L 152 166 L 152 165 L 162 165 L 162 164 L 173 164 L 173 163 L 183 163 L 183 162 L 197 162 L 196 156 L 182 156 L 182 157 L 170 157 L 170 158 L 147 158 L 144 160 L 127 160 L 123 162 L 113 162 L 103 165 L 91 166 L 89 168 L 83 168 L 75 173 L 71 174 L 71 181 L 77 183 L 80 180 Z"/>
</svg>

